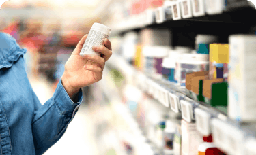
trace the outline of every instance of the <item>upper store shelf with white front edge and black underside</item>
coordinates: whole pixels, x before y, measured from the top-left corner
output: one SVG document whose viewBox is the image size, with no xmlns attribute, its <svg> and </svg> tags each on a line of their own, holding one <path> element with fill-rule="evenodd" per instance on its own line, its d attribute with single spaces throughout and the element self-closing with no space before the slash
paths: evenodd
<svg viewBox="0 0 256 155">
<path fill-rule="evenodd" d="M 228 2 L 229 1 L 227 1 L 227 3 Z M 181 9 L 182 8 L 180 8 L 180 10 Z M 156 22 L 156 11 L 157 9 L 147 9 L 141 14 L 134 14 L 128 18 L 124 18 L 124 20 L 119 21 L 118 23 L 113 24 L 112 35 L 119 35 L 128 31 L 138 31 L 139 29 L 143 29 L 145 27 L 180 27 L 191 25 L 195 22 L 197 26 L 199 25 L 198 22 L 209 22 L 209 24 L 256 24 L 255 7 L 246 0 L 232 3 L 229 2 L 228 5 L 222 8 L 221 13 L 207 14 L 204 10 L 204 15 L 201 16 L 191 15 L 192 17 L 190 18 L 183 18 L 182 15 L 180 15 L 181 17 L 178 20 L 173 20 L 172 18 L 162 20 L 162 22 Z M 180 14 L 182 14 L 181 11 Z M 248 14 L 250 16 L 244 16 L 244 14 Z"/>
</svg>

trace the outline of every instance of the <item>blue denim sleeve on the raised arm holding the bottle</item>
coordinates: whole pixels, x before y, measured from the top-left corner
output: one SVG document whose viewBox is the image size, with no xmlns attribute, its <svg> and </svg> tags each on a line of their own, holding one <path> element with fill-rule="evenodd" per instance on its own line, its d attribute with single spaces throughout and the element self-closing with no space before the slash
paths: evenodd
<svg viewBox="0 0 256 155">
<path fill-rule="evenodd" d="M 43 154 L 61 138 L 68 124 L 74 118 L 82 100 L 83 93 L 80 89 L 79 102 L 74 103 L 63 88 L 61 80 L 53 97 L 46 101 L 44 105 L 41 105 L 38 99 L 35 99 L 37 101 L 35 107 L 40 107 L 35 111 L 32 122 L 36 154 Z"/>
</svg>

